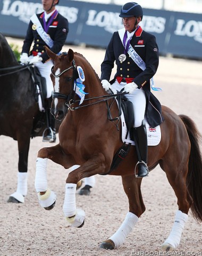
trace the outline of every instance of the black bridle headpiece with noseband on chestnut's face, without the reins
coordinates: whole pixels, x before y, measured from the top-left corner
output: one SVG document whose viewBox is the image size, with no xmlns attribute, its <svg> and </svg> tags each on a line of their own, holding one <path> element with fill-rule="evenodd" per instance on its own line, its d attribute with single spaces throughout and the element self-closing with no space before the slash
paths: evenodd
<svg viewBox="0 0 202 256">
<path fill-rule="evenodd" d="M 66 53 L 64 53 L 66 54 Z M 77 69 L 76 69 L 76 65 L 75 65 L 75 61 L 72 60 L 72 66 L 63 70 L 60 74 L 55 75 L 53 73 L 53 68 L 51 69 L 51 73 L 54 77 L 60 77 L 62 74 L 64 74 L 66 71 L 70 70 L 71 68 L 73 68 L 73 76 L 72 77 L 68 77 L 68 80 L 70 81 L 72 79 L 72 87 L 71 87 L 71 92 L 69 95 L 60 93 L 60 92 L 53 92 L 53 98 L 60 98 L 60 99 L 65 99 L 66 102 L 70 102 L 73 98 L 74 98 L 74 94 L 75 94 L 75 89 L 74 89 L 74 83 L 75 83 L 75 79 L 77 77 Z"/>
</svg>

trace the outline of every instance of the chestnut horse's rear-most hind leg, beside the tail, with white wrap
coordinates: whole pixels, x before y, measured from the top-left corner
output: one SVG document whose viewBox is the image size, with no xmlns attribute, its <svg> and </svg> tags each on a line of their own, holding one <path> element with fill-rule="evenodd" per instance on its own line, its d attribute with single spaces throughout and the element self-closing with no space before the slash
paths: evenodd
<svg viewBox="0 0 202 256">
<path fill-rule="evenodd" d="M 184 225 L 188 218 L 188 211 L 192 204 L 192 199 L 189 195 L 186 185 L 187 173 L 188 173 L 188 161 L 186 163 L 181 161 L 179 165 L 173 163 L 173 165 L 178 166 L 173 169 L 171 162 L 169 164 L 163 162 L 160 164 L 162 169 L 166 172 L 167 179 L 172 186 L 176 197 L 178 198 L 179 210 L 176 212 L 174 224 L 169 237 L 162 244 L 161 248 L 164 251 L 172 251 L 180 244 L 180 239 Z"/>
</svg>

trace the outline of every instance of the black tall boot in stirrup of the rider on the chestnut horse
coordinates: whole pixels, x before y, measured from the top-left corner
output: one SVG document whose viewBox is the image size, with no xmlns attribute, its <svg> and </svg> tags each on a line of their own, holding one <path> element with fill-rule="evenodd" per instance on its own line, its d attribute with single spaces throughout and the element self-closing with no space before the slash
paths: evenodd
<svg viewBox="0 0 202 256">
<path fill-rule="evenodd" d="M 136 138 L 136 150 L 138 155 L 138 173 L 136 177 L 142 178 L 147 177 L 149 174 L 147 167 L 147 130 L 145 126 L 145 121 L 142 121 L 142 125 L 136 128 L 133 128 L 133 136 Z"/>
</svg>

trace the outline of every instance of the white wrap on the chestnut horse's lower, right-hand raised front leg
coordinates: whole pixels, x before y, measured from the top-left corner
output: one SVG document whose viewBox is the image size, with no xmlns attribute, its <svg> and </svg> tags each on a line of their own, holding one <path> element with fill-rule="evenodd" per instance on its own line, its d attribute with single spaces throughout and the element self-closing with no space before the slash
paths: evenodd
<svg viewBox="0 0 202 256">
<path fill-rule="evenodd" d="M 76 212 L 75 192 L 77 184 L 66 183 L 63 212 L 65 217 L 72 217 Z"/>
</svg>

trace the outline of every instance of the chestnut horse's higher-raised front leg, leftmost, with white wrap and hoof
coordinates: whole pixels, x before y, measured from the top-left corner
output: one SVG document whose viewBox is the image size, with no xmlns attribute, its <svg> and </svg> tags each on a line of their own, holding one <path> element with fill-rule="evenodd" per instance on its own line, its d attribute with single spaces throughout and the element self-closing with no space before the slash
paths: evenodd
<svg viewBox="0 0 202 256">
<path fill-rule="evenodd" d="M 64 167 L 73 165 L 73 161 L 64 155 L 61 146 L 58 144 L 53 147 L 42 148 L 38 152 L 36 163 L 35 189 L 38 193 L 39 204 L 46 210 L 53 209 L 56 201 L 56 194 L 48 188 L 47 184 L 47 161 L 61 164 Z"/>
</svg>

